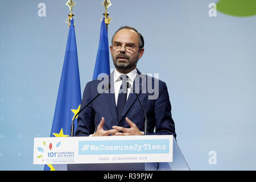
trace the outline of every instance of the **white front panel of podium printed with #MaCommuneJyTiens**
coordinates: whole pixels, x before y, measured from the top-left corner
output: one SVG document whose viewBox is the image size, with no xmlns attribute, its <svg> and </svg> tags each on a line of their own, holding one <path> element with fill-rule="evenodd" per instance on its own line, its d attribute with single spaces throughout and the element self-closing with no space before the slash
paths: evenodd
<svg viewBox="0 0 256 182">
<path fill-rule="evenodd" d="M 172 135 L 34 138 L 34 164 L 172 162 Z"/>
</svg>

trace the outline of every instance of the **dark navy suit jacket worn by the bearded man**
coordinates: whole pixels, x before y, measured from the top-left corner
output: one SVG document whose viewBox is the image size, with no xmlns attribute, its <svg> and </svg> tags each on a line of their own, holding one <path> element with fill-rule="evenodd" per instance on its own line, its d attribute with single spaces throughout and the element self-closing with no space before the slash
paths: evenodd
<svg viewBox="0 0 256 182">
<path fill-rule="evenodd" d="M 138 75 L 133 82 L 133 89 L 138 93 L 139 99 L 146 111 L 147 135 L 174 135 L 176 138 L 166 84 L 154 77 L 142 74 L 138 69 L 137 73 Z M 129 94 L 121 118 L 117 118 L 113 75 L 114 72 L 102 78 L 102 80 L 105 79 L 105 82 L 107 80 L 110 83 L 110 89 L 106 90 L 109 93 L 105 92 L 98 96 L 92 104 L 79 114 L 75 136 L 93 134 L 101 121 L 101 117 L 105 118 L 104 130 L 110 130 L 114 125 L 129 128 L 130 126 L 125 121 L 125 118 L 128 117 L 137 125 L 140 131 L 144 131 L 145 117 L 134 92 Z M 139 78 L 139 82 L 137 78 Z M 86 84 L 80 108 L 83 108 L 98 94 L 97 88 L 99 84 L 102 85 L 102 80 L 93 80 Z M 137 82 L 135 82 L 136 80 Z M 151 88 L 154 88 L 154 93 L 152 93 Z M 155 99 L 148 99 L 148 96 Z"/>
</svg>

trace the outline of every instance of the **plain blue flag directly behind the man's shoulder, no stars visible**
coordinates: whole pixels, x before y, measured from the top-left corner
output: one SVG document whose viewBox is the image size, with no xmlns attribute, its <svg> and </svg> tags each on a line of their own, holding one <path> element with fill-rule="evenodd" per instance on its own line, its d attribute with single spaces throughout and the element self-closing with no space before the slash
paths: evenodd
<svg viewBox="0 0 256 182">
<path fill-rule="evenodd" d="M 110 74 L 108 32 L 106 30 L 106 24 L 104 19 L 101 22 L 100 44 L 98 46 L 93 80 L 96 79 L 101 73 L 105 73 L 106 75 Z M 99 77 L 103 76 L 105 75 L 102 74 Z"/>
</svg>

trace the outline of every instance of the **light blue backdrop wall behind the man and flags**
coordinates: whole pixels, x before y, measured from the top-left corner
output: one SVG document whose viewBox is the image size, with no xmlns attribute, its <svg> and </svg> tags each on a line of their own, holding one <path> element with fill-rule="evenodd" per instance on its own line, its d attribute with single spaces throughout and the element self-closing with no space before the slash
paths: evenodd
<svg viewBox="0 0 256 182">
<path fill-rule="evenodd" d="M 66 2 L 1 0 L 1 170 L 43 169 L 32 164 L 33 140 L 51 132 L 68 36 Z M 92 80 L 105 9 L 103 0 L 75 2 L 83 91 Z M 166 82 L 177 142 L 192 170 L 255 170 L 256 16 L 217 11 L 210 17 L 211 2 L 218 1 L 112 0 L 109 45 L 123 25 L 144 36 L 138 69 Z M 38 16 L 39 3 L 46 16 Z"/>
</svg>

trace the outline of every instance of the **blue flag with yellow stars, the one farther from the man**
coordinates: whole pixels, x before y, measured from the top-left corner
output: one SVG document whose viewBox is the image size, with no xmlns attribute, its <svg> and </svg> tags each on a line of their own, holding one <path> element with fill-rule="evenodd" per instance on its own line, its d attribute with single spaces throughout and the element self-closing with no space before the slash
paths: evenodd
<svg viewBox="0 0 256 182">
<path fill-rule="evenodd" d="M 72 119 L 79 111 L 80 103 L 81 88 L 79 64 L 77 59 L 75 28 L 73 19 L 71 19 L 60 78 L 59 93 L 52 122 L 51 137 L 69 137 Z M 65 165 L 64 168 L 63 165 Z M 44 170 L 65 170 L 65 167 L 67 167 L 66 164 L 47 164 L 44 166 Z"/>
</svg>

